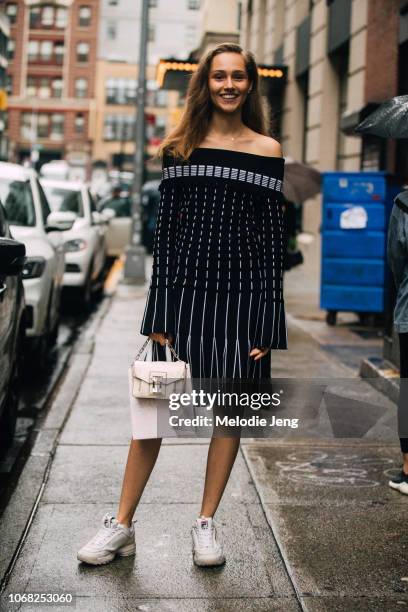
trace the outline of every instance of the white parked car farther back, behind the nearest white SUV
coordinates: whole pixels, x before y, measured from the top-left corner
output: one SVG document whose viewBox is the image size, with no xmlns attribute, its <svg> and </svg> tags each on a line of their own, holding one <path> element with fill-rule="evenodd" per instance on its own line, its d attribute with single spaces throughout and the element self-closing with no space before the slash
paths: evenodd
<svg viewBox="0 0 408 612">
<path fill-rule="evenodd" d="M 85 183 L 40 178 L 53 211 L 69 211 L 76 218 L 64 232 L 64 287 L 75 287 L 84 305 L 89 305 L 92 291 L 103 282 L 106 262 L 106 223 L 108 216 L 96 210 Z"/>
</svg>

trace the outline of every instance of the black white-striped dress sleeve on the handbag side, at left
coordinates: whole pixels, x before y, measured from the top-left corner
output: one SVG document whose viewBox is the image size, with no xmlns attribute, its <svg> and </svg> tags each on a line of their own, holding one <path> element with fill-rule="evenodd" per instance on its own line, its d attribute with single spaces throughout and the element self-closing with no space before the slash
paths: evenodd
<svg viewBox="0 0 408 612">
<path fill-rule="evenodd" d="M 163 162 L 164 163 L 164 162 Z M 173 179 L 162 180 L 153 242 L 153 267 L 140 333 L 175 335 L 173 302 L 175 244 L 178 223 L 178 190 Z"/>
</svg>

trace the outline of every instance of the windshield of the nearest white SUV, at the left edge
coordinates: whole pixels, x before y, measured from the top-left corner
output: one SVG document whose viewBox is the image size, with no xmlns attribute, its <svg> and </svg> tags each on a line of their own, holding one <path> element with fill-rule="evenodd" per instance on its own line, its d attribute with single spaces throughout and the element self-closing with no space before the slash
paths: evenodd
<svg viewBox="0 0 408 612">
<path fill-rule="evenodd" d="M 0 200 L 10 225 L 35 226 L 35 209 L 30 181 L 0 178 Z"/>
</svg>

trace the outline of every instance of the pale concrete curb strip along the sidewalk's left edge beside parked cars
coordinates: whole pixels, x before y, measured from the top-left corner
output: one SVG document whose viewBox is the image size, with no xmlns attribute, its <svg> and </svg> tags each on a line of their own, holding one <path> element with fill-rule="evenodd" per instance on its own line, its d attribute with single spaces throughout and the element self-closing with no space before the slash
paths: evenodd
<svg viewBox="0 0 408 612">
<path fill-rule="evenodd" d="M 108 314 L 114 294 L 105 298 L 100 309 L 91 319 L 74 345 L 59 380 L 59 387 L 51 392 L 54 396 L 30 455 L 20 474 L 7 507 L 1 517 L 2 546 L 0 550 L 0 594 L 7 586 L 9 577 L 24 545 L 38 504 L 45 489 L 54 455 L 62 430 L 67 422 L 91 363 L 94 338 Z"/>
</svg>

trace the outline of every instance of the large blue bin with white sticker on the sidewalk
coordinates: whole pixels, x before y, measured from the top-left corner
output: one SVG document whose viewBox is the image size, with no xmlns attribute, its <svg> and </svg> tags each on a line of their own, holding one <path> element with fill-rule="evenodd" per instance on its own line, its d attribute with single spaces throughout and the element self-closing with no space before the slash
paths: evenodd
<svg viewBox="0 0 408 612">
<path fill-rule="evenodd" d="M 323 174 L 320 307 L 382 313 L 388 284 L 388 219 L 401 187 L 385 172 Z"/>
</svg>

